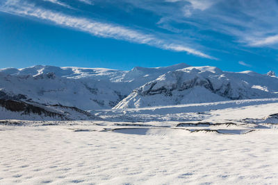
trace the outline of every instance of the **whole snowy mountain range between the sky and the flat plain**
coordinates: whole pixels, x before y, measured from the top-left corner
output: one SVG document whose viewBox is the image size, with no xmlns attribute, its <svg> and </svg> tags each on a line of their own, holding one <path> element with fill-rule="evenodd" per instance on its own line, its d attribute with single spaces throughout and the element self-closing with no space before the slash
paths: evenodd
<svg viewBox="0 0 278 185">
<path fill-rule="evenodd" d="M 278 98 L 278 78 L 216 67 L 114 69 L 35 66 L 0 69 L 0 98 L 83 110 Z"/>
</svg>

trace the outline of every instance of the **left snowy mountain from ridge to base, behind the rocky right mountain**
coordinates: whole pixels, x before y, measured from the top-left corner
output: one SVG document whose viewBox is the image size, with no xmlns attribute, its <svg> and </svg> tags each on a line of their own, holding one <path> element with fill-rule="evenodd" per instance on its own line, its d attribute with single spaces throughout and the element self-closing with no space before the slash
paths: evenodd
<svg viewBox="0 0 278 185">
<path fill-rule="evenodd" d="M 40 65 L 0 69 L 0 98 L 80 109 L 110 109 L 133 89 L 167 71 L 184 67 L 188 65 L 135 67 L 131 71 Z"/>
</svg>

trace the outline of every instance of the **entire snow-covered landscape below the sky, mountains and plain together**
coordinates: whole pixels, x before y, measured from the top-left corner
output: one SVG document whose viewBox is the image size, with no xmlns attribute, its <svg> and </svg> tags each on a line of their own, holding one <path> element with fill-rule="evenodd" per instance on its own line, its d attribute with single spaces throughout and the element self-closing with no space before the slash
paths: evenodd
<svg viewBox="0 0 278 185">
<path fill-rule="evenodd" d="M 0 184 L 278 184 L 273 74 L 36 66 L 0 81 Z"/>
</svg>

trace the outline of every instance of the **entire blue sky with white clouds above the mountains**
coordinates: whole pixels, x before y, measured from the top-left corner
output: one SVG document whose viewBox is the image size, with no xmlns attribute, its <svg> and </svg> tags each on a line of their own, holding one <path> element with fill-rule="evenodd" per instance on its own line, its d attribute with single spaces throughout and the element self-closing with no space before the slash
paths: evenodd
<svg viewBox="0 0 278 185">
<path fill-rule="evenodd" d="M 277 0 L 2 0 L 0 68 L 278 72 L 277 17 Z"/>
</svg>

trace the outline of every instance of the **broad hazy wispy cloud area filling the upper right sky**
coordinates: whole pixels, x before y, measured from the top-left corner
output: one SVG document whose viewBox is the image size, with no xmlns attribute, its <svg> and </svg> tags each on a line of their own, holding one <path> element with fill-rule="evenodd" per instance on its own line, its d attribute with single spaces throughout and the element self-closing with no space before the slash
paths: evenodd
<svg viewBox="0 0 278 185">
<path fill-rule="evenodd" d="M 277 0 L 164 0 L 166 3 L 156 0 L 123 1 L 161 16 L 157 22 L 159 28 L 173 33 L 181 34 L 184 30 L 186 35 L 204 37 L 196 30 L 213 30 L 234 37 L 227 40 L 227 43 L 237 43 L 239 47 L 277 48 Z M 188 29 L 188 26 L 192 29 Z"/>
</svg>

